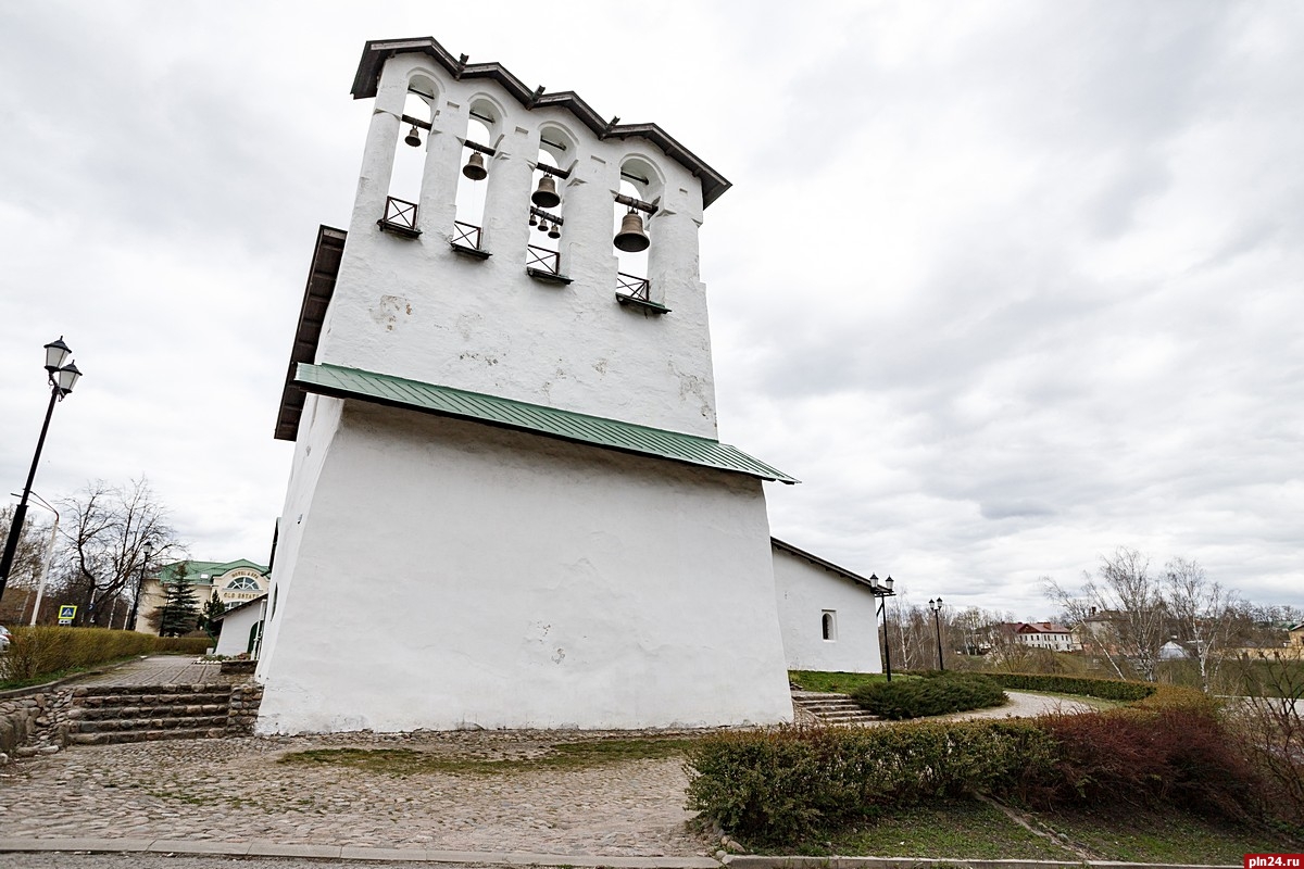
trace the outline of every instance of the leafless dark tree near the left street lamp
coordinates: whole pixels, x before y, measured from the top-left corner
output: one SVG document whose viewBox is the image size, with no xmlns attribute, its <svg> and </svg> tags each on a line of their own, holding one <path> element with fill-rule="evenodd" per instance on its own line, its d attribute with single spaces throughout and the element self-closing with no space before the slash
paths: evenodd
<svg viewBox="0 0 1304 869">
<path fill-rule="evenodd" d="M 111 627 L 113 605 L 124 598 L 129 607 L 137 591 L 145 543 L 155 558 L 179 554 L 176 532 L 143 478 L 128 486 L 95 481 L 67 499 L 64 509 L 64 591 L 81 602 L 80 624 Z"/>
</svg>

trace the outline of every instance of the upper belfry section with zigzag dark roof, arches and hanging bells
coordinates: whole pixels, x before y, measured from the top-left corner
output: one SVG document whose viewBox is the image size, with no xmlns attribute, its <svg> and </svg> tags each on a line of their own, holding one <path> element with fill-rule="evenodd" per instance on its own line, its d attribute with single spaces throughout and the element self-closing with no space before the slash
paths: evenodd
<svg viewBox="0 0 1304 869">
<path fill-rule="evenodd" d="M 433 40 L 369 43 L 353 95 L 374 112 L 318 362 L 716 436 L 698 228 L 728 181 L 655 124 L 602 120 Z M 424 155 L 420 189 L 395 184 L 406 151 Z M 459 186 L 482 188 L 481 214 L 459 215 Z M 645 274 L 621 274 L 617 210 L 645 228 Z M 540 212 L 557 238 L 531 225 Z"/>
</svg>

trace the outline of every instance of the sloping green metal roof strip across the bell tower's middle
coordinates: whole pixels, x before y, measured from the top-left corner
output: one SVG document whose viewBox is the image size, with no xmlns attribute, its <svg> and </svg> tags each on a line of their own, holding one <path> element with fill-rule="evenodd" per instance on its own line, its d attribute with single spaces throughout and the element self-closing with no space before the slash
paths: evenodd
<svg viewBox="0 0 1304 869">
<path fill-rule="evenodd" d="M 308 392 L 321 395 L 361 399 L 443 417 L 473 420 L 493 426 L 532 431 L 548 438 L 656 456 L 719 470 L 732 470 L 762 479 L 775 479 L 784 483 L 799 482 L 784 472 L 752 459 L 741 449 L 709 438 L 649 429 L 619 420 L 591 417 L 481 392 L 466 392 L 389 374 L 360 371 L 338 365 L 300 362 L 295 383 Z"/>
</svg>

